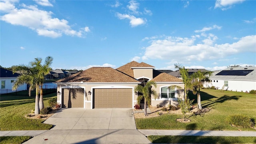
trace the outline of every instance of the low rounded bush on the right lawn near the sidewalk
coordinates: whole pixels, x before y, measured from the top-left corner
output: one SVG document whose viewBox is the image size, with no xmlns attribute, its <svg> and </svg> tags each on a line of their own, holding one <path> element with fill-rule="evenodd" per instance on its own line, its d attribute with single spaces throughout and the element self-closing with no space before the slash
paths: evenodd
<svg viewBox="0 0 256 144">
<path fill-rule="evenodd" d="M 251 121 L 251 119 L 248 116 L 244 115 L 230 115 L 227 118 L 227 121 L 232 126 L 240 127 L 240 128 L 250 128 L 254 126 L 254 123 Z"/>
</svg>

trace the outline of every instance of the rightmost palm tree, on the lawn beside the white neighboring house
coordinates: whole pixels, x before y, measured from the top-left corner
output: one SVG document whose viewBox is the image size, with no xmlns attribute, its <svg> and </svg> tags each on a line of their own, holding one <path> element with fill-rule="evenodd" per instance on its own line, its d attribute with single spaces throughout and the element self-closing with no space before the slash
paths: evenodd
<svg viewBox="0 0 256 144">
<path fill-rule="evenodd" d="M 201 110 L 201 96 L 200 96 L 200 88 L 204 87 L 204 82 L 211 82 L 208 76 L 210 76 L 212 72 L 195 72 L 192 74 L 192 78 L 194 78 L 195 82 L 193 82 L 193 94 L 197 94 L 197 107 Z"/>
</svg>

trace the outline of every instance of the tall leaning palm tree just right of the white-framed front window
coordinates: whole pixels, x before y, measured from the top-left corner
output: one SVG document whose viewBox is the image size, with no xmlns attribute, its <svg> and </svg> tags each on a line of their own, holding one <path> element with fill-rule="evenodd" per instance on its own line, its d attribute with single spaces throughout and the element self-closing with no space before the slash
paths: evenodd
<svg viewBox="0 0 256 144">
<path fill-rule="evenodd" d="M 192 78 L 188 75 L 188 70 L 181 64 L 174 64 L 174 68 L 180 70 L 182 81 L 184 83 L 184 99 L 188 97 L 188 90 L 192 90 Z"/>
</svg>

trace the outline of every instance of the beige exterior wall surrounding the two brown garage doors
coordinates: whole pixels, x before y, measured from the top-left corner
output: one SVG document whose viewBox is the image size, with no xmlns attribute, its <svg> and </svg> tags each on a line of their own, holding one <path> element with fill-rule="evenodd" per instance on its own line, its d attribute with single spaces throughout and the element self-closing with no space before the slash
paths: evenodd
<svg viewBox="0 0 256 144">
<path fill-rule="evenodd" d="M 57 87 L 57 103 L 61 104 L 62 100 L 62 88 L 84 88 L 84 108 L 86 109 L 92 109 L 92 96 L 93 93 L 88 94 L 88 92 L 93 92 L 94 88 L 132 88 L 134 91 L 134 87 L 137 86 L 137 84 L 58 84 Z M 60 92 L 60 93 L 58 93 Z M 133 93 L 132 96 L 132 108 L 134 108 L 134 105 L 137 103 L 137 95 Z"/>
</svg>

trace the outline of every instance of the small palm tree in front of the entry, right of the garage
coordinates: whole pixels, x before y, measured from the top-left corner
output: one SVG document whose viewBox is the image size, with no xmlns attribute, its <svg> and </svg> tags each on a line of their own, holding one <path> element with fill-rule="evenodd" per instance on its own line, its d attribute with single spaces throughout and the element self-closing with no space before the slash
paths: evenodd
<svg viewBox="0 0 256 144">
<path fill-rule="evenodd" d="M 150 104 L 151 95 L 154 96 L 154 98 L 158 97 L 158 94 L 155 90 L 152 90 L 152 86 L 156 88 L 157 84 L 154 81 L 149 81 L 146 83 L 145 86 L 138 85 L 135 87 L 135 91 L 138 92 L 138 97 L 144 97 L 144 114 L 147 115 L 147 103 Z M 139 95 L 141 93 L 142 95 Z M 139 104 L 139 103 L 138 103 Z"/>
</svg>

